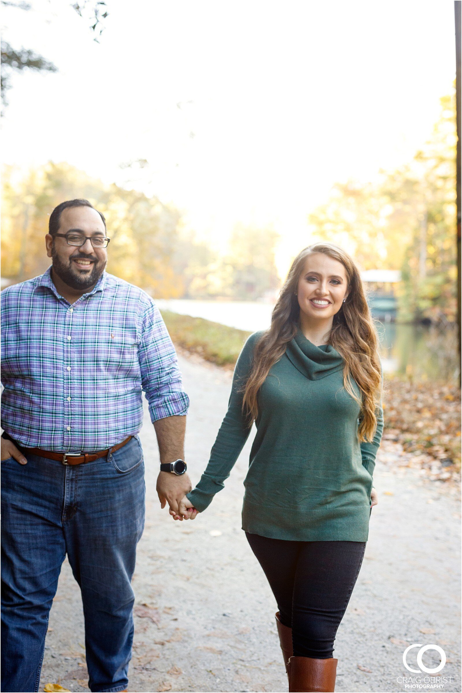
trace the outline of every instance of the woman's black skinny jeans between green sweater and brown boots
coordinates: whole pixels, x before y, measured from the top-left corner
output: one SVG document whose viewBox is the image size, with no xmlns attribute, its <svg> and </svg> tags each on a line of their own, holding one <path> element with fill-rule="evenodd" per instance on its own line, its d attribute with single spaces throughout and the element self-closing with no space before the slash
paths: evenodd
<svg viewBox="0 0 462 693">
<path fill-rule="evenodd" d="M 365 541 L 285 541 L 245 533 L 283 625 L 292 628 L 294 656 L 328 659 L 361 568 Z"/>
</svg>

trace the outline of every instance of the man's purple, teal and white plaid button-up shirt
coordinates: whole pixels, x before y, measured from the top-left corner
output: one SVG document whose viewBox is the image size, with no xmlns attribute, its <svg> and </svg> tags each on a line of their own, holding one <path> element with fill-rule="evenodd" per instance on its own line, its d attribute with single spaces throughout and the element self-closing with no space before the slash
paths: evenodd
<svg viewBox="0 0 462 693">
<path fill-rule="evenodd" d="M 48 268 L 1 292 L 3 429 L 24 447 L 105 450 L 152 421 L 184 415 L 175 349 L 154 301 L 103 272 L 69 304 Z"/>
</svg>

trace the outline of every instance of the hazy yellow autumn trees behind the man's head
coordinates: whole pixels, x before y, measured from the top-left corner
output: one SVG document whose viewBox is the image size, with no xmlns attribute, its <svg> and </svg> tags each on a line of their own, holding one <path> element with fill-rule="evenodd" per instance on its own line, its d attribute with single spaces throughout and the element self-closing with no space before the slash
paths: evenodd
<svg viewBox="0 0 462 693">
<path fill-rule="evenodd" d="M 85 198 L 105 215 L 111 238 L 107 271 L 150 290 L 157 297 L 182 295 L 170 259 L 178 236 L 179 213 L 157 198 L 107 186 L 69 164 L 27 171 L 6 166 L 3 173 L 1 273 L 14 281 L 46 270 L 44 236 L 54 207 Z"/>
</svg>

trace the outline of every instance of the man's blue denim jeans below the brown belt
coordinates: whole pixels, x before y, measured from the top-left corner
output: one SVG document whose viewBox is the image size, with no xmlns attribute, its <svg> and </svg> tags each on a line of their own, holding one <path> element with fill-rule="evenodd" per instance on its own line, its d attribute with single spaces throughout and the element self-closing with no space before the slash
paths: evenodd
<svg viewBox="0 0 462 693">
<path fill-rule="evenodd" d="M 67 554 L 82 592 L 91 691 L 127 687 L 144 527 L 139 438 L 94 462 L 1 462 L 1 690 L 38 691 L 48 614 Z M 69 624 L 70 626 L 70 624 Z"/>
</svg>

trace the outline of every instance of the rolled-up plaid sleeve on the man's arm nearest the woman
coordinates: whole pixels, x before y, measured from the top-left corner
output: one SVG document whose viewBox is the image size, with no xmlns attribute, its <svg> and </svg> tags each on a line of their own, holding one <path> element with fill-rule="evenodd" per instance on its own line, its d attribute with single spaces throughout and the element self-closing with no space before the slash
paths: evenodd
<svg viewBox="0 0 462 693">
<path fill-rule="evenodd" d="M 177 353 L 154 302 L 143 315 L 139 364 L 152 423 L 167 416 L 186 416 L 189 398 L 181 382 Z"/>
</svg>

